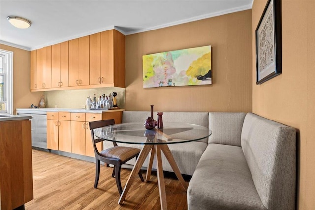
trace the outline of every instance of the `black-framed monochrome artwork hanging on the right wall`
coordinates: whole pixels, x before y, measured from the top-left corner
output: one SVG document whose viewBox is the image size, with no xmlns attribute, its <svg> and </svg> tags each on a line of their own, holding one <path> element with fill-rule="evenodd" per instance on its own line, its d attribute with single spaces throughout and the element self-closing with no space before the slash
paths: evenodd
<svg viewBox="0 0 315 210">
<path fill-rule="evenodd" d="M 256 84 L 281 74 L 281 0 L 268 0 L 256 28 Z"/>
</svg>

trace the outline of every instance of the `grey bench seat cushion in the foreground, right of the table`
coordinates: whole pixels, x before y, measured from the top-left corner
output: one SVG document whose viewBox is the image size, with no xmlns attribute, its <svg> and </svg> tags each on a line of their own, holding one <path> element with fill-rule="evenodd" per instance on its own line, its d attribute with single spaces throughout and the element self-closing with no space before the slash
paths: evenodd
<svg viewBox="0 0 315 210">
<path fill-rule="evenodd" d="M 189 210 L 266 210 L 242 148 L 214 143 L 201 156 L 187 201 Z"/>
</svg>

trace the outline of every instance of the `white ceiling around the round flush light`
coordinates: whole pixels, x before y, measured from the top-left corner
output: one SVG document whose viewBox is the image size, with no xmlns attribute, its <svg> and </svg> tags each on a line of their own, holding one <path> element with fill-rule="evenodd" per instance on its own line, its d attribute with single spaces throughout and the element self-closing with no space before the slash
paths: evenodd
<svg viewBox="0 0 315 210">
<path fill-rule="evenodd" d="M 125 35 L 252 8 L 253 0 L 0 0 L 0 43 L 34 50 L 113 29 Z M 18 29 L 14 15 L 32 22 Z"/>
</svg>

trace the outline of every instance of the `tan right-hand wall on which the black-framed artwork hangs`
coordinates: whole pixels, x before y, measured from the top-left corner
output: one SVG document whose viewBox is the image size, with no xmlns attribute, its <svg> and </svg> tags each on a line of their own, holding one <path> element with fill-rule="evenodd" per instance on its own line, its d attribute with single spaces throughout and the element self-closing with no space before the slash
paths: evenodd
<svg viewBox="0 0 315 210">
<path fill-rule="evenodd" d="M 299 131 L 298 209 L 315 209 L 315 1 L 282 1 L 282 74 L 255 83 L 255 29 L 267 0 L 252 7 L 252 110 Z"/>
</svg>

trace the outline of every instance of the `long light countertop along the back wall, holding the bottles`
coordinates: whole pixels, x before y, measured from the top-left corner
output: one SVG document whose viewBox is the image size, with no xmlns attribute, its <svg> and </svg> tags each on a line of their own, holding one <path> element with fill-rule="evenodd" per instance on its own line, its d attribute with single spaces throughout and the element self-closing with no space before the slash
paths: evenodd
<svg viewBox="0 0 315 210">
<path fill-rule="evenodd" d="M 121 112 L 124 109 L 71 109 L 71 108 L 18 108 L 16 109 L 17 113 L 29 113 L 29 114 L 44 114 L 47 112 L 81 112 L 81 113 L 103 113 L 103 112 Z"/>
</svg>

